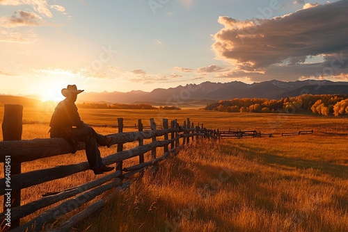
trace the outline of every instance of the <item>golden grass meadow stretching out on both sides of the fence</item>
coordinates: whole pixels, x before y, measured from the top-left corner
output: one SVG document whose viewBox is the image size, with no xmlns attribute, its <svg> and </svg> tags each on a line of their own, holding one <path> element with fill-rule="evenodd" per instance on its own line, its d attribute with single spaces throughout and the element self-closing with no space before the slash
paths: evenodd
<svg viewBox="0 0 348 232">
<path fill-rule="evenodd" d="M 52 110 L 24 108 L 22 139 L 48 138 Z M 114 192 L 105 208 L 74 231 L 348 231 L 347 118 L 205 110 L 79 113 L 87 124 L 117 125 L 117 118 L 123 117 L 129 126 L 125 131 L 136 130 L 138 119 L 148 126 L 154 118 L 160 128 L 162 118 L 182 125 L 189 117 L 209 129 L 251 129 L 274 137 L 195 142 L 156 170 L 146 170 L 143 178 L 132 179 L 129 188 Z M 95 129 L 117 132 L 112 127 Z M 313 134 L 280 136 L 311 129 Z M 134 146 L 126 144 L 125 149 Z M 107 156 L 116 146 L 101 152 Z M 24 163 L 22 172 L 85 160 L 84 151 L 78 151 Z M 136 160 L 125 165 L 132 163 Z M 22 204 L 96 178 L 87 171 L 27 188 L 22 190 Z"/>
</svg>

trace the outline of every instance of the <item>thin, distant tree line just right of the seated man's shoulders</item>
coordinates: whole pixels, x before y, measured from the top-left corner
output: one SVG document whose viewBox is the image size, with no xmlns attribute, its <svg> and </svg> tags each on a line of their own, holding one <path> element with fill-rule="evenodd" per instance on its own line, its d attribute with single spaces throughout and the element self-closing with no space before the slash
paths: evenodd
<svg viewBox="0 0 348 232">
<path fill-rule="evenodd" d="M 150 104 L 123 104 L 123 103 L 77 103 L 79 108 L 94 108 L 94 109 L 117 109 L 117 110 L 181 110 L 175 106 L 151 106 Z"/>
</svg>

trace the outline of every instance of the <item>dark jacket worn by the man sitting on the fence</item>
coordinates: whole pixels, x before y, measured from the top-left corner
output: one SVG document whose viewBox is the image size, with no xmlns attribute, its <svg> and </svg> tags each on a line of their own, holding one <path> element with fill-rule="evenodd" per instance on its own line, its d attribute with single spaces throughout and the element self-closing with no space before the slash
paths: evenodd
<svg viewBox="0 0 348 232">
<path fill-rule="evenodd" d="M 65 99 L 56 106 L 49 126 L 51 126 L 51 130 L 59 130 L 72 128 L 72 126 L 79 128 L 85 126 L 85 124 L 81 121 L 75 103 Z"/>
</svg>

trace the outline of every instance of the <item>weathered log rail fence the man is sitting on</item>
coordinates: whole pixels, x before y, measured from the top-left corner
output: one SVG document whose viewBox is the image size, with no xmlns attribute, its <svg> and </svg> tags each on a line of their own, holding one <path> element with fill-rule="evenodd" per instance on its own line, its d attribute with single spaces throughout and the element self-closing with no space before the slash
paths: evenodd
<svg viewBox="0 0 348 232">
<path fill-rule="evenodd" d="M 201 127 L 193 126 L 189 118 L 187 122 L 184 122 L 183 126 L 179 126 L 175 119 L 171 121 L 170 127 L 168 126 L 168 119 L 163 119 L 162 126 L 164 129 L 161 130 L 156 129 L 157 126 L 154 119 L 150 119 L 150 131 L 143 131 L 141 119 L 138 120 L 138 125 L 139 131 L 123 133 L 123 119 L 118 118 L 118 133 L 109 135 L 112 138 L 111 144 L 117 144 L 117 152 L 104 157 L 103 162 L 105 165 L 116 164 L 116 172 L 111 172 L 111 174 L 104 175 L 95 181 L 84 183 L 68 190 L 46 194 L 40 199 L 22 206 L 20 205 L 20 192 L 22 189 L 47 181 L 61 179 L 78 172 L 84 172 L 89 169 L 89 165 L 87 162 L 83 162 L 21 173 L 20 167 L 22 163 L 69 154 L 72 152 L 72 147 L 63 138 L 38 138 L 34 140 L 0 142 L 0 160 L 4 163 L 4 167 L 6 167 L 6 164 L 17 167 L 17 169 L 10 169 L 10 175 L 6 175 L 8 169 L 4 168 L 5 177 L 0 180 L 0 194 L 3 195 L 4 199 L 4 210 L 0 214 L 1 229 L 40 231 L 47 224 L 55 222 L 61 215 L 79 208 L 107 190 L 116 188 L 116 186 L 122 183 L 123 179 L 127 179 L 129 176 L 142 172 L 146 167 L 164 160 L 170 154 L 175 153 L 179 147 L 193 142 L 195 138 L 196 140 L 199 138 L 219 138 L 219 134 L 216 131 L 204 129 L 203 124 Z M 161 140 L 158 139 L 159 137 Z M 151 142 L 148 142 L 148 140 Z M 128 142 L 139 142 L 139 146 L 124 151 L 123 145 Z M 145 144 L 145 142 L 148 143 Z M 163 148 L 163 153 L 157 154 L 158 147 Z M 84 143 L 79 142 L 78 150 L 83 149 Z M 145 161 L 144 154 L 149 151 L 152 158 Z M 139 157 L 139 165 L 123 167 L 123 160 L 134 157 Z M 10 160 L 10 163 L 6 163 L 8 160 Z M 10 202 L 8 201 L 8 194 L 10 194 Z M 13 199 L 14 197 L 16 199 Z M 102 208 L 106 204 L 106 199 L 107 197 L 94 202 L 88 208 L 61 224 L 61 227 L 56 229 L 56 231 L 69 231 L 72 226 Z M 58 202 L 61 202 L 61 204 L 49 208 L 45 213 L 31 219 L 31 221 L 19 225 L 19 219 Z M 7 224 L 8 222 L 10 224 Z"/>
</svg>

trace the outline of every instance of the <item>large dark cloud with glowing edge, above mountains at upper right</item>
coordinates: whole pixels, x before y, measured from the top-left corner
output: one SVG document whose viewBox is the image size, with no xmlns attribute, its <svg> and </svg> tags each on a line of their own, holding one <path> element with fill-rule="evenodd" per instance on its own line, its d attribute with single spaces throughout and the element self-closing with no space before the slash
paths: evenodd
<svg viewBox="0 0 348 232">
<path fill-rule="evenodd" d="M 347 76 L 348 1 L 304 8 L 273 19 L 219 17 L 224 28 L 214 35 L 216 57 L 236 67 L 235 77 L 258 81 L 278 72 L 295 79 Z M 324 61 L 308 63 L 310 56 L 324 56 Z"/>
</svg>

